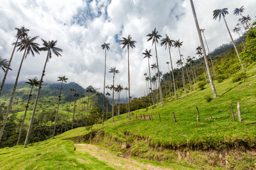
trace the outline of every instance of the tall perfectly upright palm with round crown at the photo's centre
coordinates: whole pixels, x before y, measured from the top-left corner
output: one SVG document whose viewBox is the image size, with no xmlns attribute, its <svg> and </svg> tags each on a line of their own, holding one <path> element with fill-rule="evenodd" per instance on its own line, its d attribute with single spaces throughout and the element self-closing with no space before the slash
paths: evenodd
<svg viewBox="0 0 256 170">
<path fill-rule="evenodd" d="M 130 62 L 130 58 L 129 58 L 129 48 L 131 47 L 131 48 L 134 48 L 135 47 L 135 44 L 136 43 L 136 41 L 132 41 L 132 38 L 131 38 L 131 36 L 129 35 L 128 36 L 128 38 L 122 38 L 121 39 L 121 45 L 123 45 L 122 46 L 122 48 L 125 48 L 125 46 L 127 46 L 127 51 L 128 51 L 128 94 L 129 94 L 129 102 L 128 102 L 128 110 L 129 110 L 129 118 L 131 117 L 131 115 L 130 115 L 130 64 L 129 64 L 129 62 Z M 114 121 L 114 117 L 113 117 L 113 121 Z"/>
</svg>

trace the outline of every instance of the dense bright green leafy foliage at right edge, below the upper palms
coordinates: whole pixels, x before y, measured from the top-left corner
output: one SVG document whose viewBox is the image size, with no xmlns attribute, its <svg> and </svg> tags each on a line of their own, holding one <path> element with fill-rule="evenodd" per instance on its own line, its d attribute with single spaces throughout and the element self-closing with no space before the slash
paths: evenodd
<svg viewBox="0 0 256 170">
<path fill-rule="evenodd" d="M 246 33 L 246 47 L 241 52 L 241 60 L 248 66 L 256 62 L 256 28 L 250 29 Z"/>
</svg>

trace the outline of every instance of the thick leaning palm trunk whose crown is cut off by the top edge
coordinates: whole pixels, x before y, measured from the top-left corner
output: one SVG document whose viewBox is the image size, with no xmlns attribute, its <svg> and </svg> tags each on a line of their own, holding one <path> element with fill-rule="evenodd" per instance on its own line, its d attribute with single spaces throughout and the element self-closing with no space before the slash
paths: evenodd
<svg viewBox="0 0 256 170">
<path fill-rule="evenodd" d="M 203 38 L 202 38 L 202 34 L 200 32 L 200 27 L 199 27 L 199 24 L 198 24 L 198 20 L 197 20 L 197 17 L 196 17 L 196 12 L 195 12 L 195 7 L 194 7 L 194 4 L 193 4 L 192 0 L 190 0 L 190 4 L 191 4 L 192 11 L 193 11 L 193 16 L 194 16 L 194 19 L 195 19 L 196 30 L 197 30 L 197 33 L 198 33 L 200 44 L 201 44 L 201 46 L 203 48 L 203 52 L 204 52 L 204 60 L 205 60 L 205 65 L 206 65 L 207 73 L 208 73 L 210 84 L 211 84 L 213 98 L 216 98 L 217 93 L 216 93 L 215 86 L 214 86 L 214 83 L 213 83 L 213 80 L 212 80 L 211 70 L 210 70 L 210 67 L 209 67 L 209 64 L 208 64 L 208 60 L 207 60 L 206 52 L 205 52 L 205 48 L 204 48 L 204 41 L 203 41 Z"/>
</svg>

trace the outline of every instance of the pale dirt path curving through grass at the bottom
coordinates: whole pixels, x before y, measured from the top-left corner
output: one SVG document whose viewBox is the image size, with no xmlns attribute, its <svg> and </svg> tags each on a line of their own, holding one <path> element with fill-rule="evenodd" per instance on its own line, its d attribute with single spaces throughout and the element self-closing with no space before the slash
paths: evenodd
<svg viewBox="0 0 256 170">
<path fill-rule="evenodd" d="M 168 169 L 165 167 L 157 167 L 150 164 L 143 164 L 131 158 L 118 157 L 117 155 L 109 153 L 108 151 L 94 145 L 79 143 L 75 144 L 75 146 L 77 150 L 87 152 L 93 157 L 101 160 L 102 162 L 106 162 L 108 166 L 111 166 L 115 169 Z"/>
</svg>

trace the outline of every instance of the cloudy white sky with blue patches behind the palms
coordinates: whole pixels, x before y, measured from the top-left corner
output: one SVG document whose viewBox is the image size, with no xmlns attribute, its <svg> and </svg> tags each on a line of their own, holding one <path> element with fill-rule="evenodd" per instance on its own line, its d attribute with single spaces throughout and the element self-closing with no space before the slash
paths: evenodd
<svg viewBox="0 0 256 170">
<path fill-rule="evenodd" d="M 239 17 L 232 11 L 244 5 L 244 15 L 255 20 L 255 0 L 194 0 L 198 21 L 205 29 L 210 50 L 223 43 L 229 43 L 223 20 L 212 20 L 212 11 L 228 8 L 227 23 L 233 29 Z M 148 72 L 147 60 L 141 54 L 145 48 L 152 48 L 151 63 L 156 62 L 155 50 L 147 42 L 147 34 L 156 27 L 159 34 L 168 34 L 171 39 L 183 41 L 181 53 L 186 58 L 195 55 L 198 34 L 188 0 L 0 0 L 0 56 L 9 59 L 15 41 L 15 27 L 25 25 L 29 36 L 40 36 L 45 40 L 58 40 L 57 46 L 63 49 L 62 57 L 53 56 L 47 64 L 45 81 L 56 82 L 58 76 L 67 76 L 68 81 L 76 81 L 83 87 L 93 85 L 102 91 L 104 77 L 104 50 L 102 43 L 110 43 L 107 57 L 107 71 L 116 66 L 120 71 L 116 83 L 127 87 L 127 50 L 120 41 L 129 34 L 137 41 L 136 48 L 130 51 L 131 96 L 143 96 L 145 90 L 144 73 Z M 234 38 L 237 35 L 232 33 Z M 38 39 L 38 43 L 42 43 Z M 169 59 L 163 46 L 157 45 L 159 68 L 168 71 L 165 64 Z M 178 50 L 172 48 L 174 62 Z M 22 53 L 16 52 L 8 82 L 15 81 Z M 35 57 L 28 56 L 20 73 L 20 81 L 34 76 L 40 77 L 46 53 Z M 175 65 L 175 64 L 174 64 Z M 177 67 L 177 66 L 175 66 Z M 106 74 L 106 84 L 112 82 L 112 74 Z M 0 72 L 3 78 L 3 71 Z"/>
</svg>

